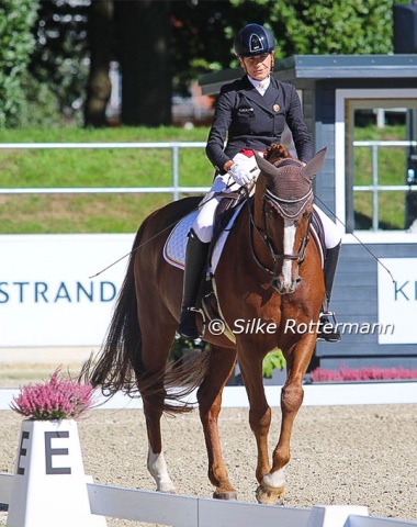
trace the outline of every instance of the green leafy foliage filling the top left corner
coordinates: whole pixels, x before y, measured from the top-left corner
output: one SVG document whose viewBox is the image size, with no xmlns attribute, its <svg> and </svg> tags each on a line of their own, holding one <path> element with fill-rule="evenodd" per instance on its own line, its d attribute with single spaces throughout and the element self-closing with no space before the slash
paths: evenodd
<svg viewBox="0 0 417 527">
<path fill-rule="evenodd" d="M 2 0 L 0 4 L 0 127 L 19 125 L 24 101 L 21 81 L 35 46 L 31 27 L 36 9 L 33 0 Z"/>
</svg>

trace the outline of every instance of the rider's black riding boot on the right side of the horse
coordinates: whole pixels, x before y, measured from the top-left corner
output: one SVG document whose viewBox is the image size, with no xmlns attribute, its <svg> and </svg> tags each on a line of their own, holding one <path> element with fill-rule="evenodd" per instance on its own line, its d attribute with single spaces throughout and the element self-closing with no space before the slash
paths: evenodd
<svg viewBox="0 0 417 527">
<path fill-rule="evenodd" d="M 338 343 L 341 340 L 341 335 L 339 329 L 336 327 L 336 317 L 335 313 L 329 311 L 329 303 L 331 298 L 333 284 L 335 281 L 337 262 L 339 260 L 340 244 L 331 249 L 326 250 L 326 260 L 325 260 L 325 288 L 326 288 L 326 298 L 323 303 L 323 312 L 319 317 L 319 326 L 317 338 L 319 340 L 327 340 L 328 343 Z"/>
</svg>

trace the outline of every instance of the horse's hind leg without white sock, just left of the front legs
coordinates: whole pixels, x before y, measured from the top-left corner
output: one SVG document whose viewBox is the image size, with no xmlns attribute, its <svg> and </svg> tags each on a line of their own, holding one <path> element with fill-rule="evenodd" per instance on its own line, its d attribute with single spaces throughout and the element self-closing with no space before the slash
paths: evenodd
<svg viewBox="0 0 417 527">
<path fill-rule="evenodd" d="M 198 391 L 200 418 L 208 456 L 208 479 L 216 487 L 213 497 L 219 500 L 237 498 L 223 460 L 217 427 L 222 392 L 233 372 L 235 362 L 235 350 L 211 345 L 208 369 Z"/>
</svg>

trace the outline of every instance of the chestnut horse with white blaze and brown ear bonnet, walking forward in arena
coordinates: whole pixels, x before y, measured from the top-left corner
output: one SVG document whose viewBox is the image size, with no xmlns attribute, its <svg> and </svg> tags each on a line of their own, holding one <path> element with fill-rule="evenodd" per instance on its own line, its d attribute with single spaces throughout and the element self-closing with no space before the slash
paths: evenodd
<svg viewBox="0 0 417 527">
<path fill-rule="evenodd" d="M 204 365 L 184 367 L 187 371 L 167 370 L 180 316 L 183 271 L 164 259 L 162 247 L 172 225 L 196 206 L 196 199 L 187 198 L 156 211 L 136 235 L 101 356 L 87 371 L 104 393 L 124 390 L 143 397 L 149 441 L 147 466 L 158 491 L 176 492 L 162 453 L 162 412 L 188 410 L 178 403 L 181 390 L 170 392 L 167 388 L 167 375 L 171 375 L 170 383 L 177 386 L 181 377 L 187 380 L 187 393 L 199 385 L 214 497 L 236 498 L 222 456 L 217 418 L 223 389 L 238 359 L 258 449 L 257 498 L 269 504 L 282 501 L 283 468 L 290 460 L 292 427 L 303 401 L 303 377 L 316 343 L 314 327 L 325 295 L 320 251 L 309 232 L 312 182 L 325 155 L 325 149 L 320 150 L 306 166 L 291 158 L 282 145 L 270 147 L 266 158 L 257 155 L 261 173 L 255 193 L 228 235 L 214 276 L 218 305 L 236 343 L 211 334 L 208 328 L 203 337 L 210 343 L 208 350 L 201 354 Z M 241 321 L 247 330 L 241 330 Z M 288 379 L 281 393 L 280 438 L 270 463 L 271 408 L 262 383 L 262 359 L 275 348 L 285 357 Z"/>
</svg>

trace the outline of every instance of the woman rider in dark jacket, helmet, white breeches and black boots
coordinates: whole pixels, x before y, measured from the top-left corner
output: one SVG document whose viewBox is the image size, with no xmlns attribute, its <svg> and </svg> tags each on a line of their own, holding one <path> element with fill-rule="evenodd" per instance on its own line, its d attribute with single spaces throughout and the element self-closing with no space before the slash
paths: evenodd
<svg viewBox="0 0 417 527">
<path fill-rule="evenodd" d="M 246 75 L 222 87 L 208 134 L 206 155 L 216 169 L 216 177 L 189 233 L 178 328 L 178 333 L 189 339 L 199 337 L 193 307 L 221 199 L 215 194 L 239 190 L 256 180 L 259 169 L 252 150 L 263 155 L 268 146 L 280 143 L 285 123 L 291 130 L 298 159 L 307 162 L 313 157 L 313 145 L 295 87 L 271 76 L 275 49 L 272 33 L 262 25 L 248 24 L 237 33 L 234 44 Z M 335 223 L 316 205 L 315 211 L 322 221 L 326 244 L 326 298 L 320 314 L 326 332 L 318 332 L 318 337 L 335 341 L 340 340 L 340 334 L 336 327 L 330 330 L 330 319 L 335 321 L 335 317 L 329 312 L 329 301 L 340 250 L 340 234 Z"/>
</svg>

